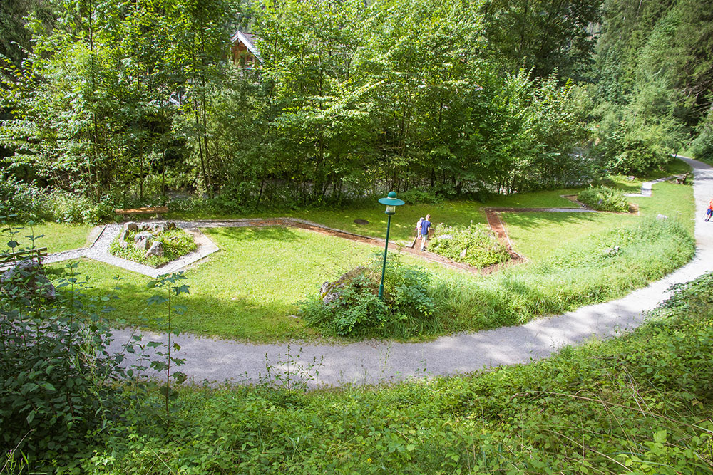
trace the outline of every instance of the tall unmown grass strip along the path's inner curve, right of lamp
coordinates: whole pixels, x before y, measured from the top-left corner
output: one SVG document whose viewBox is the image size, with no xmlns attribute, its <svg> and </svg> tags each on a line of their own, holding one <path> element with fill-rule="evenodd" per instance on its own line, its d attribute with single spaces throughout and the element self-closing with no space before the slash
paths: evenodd
<svg viewBox="0 0 713 475">
<path fill-rule="evenodd" d="M 444 277 L 434 301 L 450 332 L 520 325 L 624 296 L 686 263 L 693 251 L 692 237 L 676 221 L 647 219 L 492 276 Z"/>
</svg>

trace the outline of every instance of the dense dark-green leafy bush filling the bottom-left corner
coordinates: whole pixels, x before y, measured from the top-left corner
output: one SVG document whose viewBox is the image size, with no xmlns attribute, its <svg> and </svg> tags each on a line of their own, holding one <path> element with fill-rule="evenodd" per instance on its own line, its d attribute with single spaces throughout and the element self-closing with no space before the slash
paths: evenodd
<svg viewBox="0 0 713 475">
<path fill-rule="evenodd" d="M 27 284 L 42 281 L 37 269 L 2 284 L 0 464 L 14 454 L 37 469 L 76 466 L 120 407 L 113 382 L 122 357 L 107 352 L 111 332 L 100 316 L 110 298 L 83 296 L 76 266 L 59 279 L 57 298 L 46 279 Z"/>
</svg>

